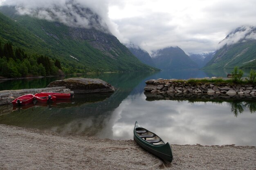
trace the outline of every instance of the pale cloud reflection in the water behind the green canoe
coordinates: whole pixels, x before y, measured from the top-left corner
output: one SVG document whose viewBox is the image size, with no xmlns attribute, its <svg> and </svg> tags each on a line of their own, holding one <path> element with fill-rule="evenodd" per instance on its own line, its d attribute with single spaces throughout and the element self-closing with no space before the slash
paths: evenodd
<svg viewBox="0 0 256 170">
<path fill-rule="evenodd" d="M 132 139 L 135 121 L 171 144 L 256 146 L 256 114 L 245 108 L 235 117 L 231 104 L 159 100 L 129 95 L 116 109 L 113 139 Z"/>
</svg>

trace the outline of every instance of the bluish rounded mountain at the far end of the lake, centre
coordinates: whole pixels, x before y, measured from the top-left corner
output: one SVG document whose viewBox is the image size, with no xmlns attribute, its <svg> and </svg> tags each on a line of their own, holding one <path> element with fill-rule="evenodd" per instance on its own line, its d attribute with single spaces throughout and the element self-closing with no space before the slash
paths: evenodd
<svg viewBox="0 0 256 170">
<path fill-rule="evenodd" d="M 153 62 L 157 68 L 163 70 L 199 68 L 179 47 L 167 47 L 151 52 Z"/>
</svg>

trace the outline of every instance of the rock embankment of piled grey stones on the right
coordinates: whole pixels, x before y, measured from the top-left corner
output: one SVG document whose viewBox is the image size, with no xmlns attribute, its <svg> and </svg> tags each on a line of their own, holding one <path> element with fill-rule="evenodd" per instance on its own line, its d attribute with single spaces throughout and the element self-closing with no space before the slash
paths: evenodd
<svg viewBox="0 0 256 170">
<path fill-rule="evenodd" d="M 256 97 L 256 86 L 250 84 L 229 83 L 199 83 L 190 84 L 186 80 L 177 79 L 150 79 L 147 80 L 144 91 L 151 94 L 175 95 L 195 94 L 236 97 Z"/>
</svg>

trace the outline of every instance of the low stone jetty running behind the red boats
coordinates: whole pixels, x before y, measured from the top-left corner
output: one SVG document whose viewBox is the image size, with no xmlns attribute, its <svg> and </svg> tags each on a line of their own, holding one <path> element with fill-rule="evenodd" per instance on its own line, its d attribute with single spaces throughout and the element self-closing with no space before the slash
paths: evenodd
<svg viewBox="0 0 256 170">
<path fill-rule="evenodd" d="M 0 91 L 0 105 L 11 104 L 15 98 L 27 94 L 36 94 L 40 92 L 56 92 L 56 93 L 72 93 L 70 89 L 63 87 L 51 87 L 51 88 L 31 88 L 22 90 L 7 90 Z"/>
</svg>

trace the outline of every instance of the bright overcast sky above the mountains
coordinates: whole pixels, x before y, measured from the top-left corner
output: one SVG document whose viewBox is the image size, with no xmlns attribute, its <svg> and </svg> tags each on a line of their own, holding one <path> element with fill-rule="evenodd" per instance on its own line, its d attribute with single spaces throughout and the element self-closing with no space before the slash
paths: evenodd
<svg viewBox="0 0 256 170">
<path fill-rule="evenodd" d="M 0 2 L 4 0 L 0 0 Z M 70 0 L 5 0 L 25 8 Z M 256 0 L 73 0 L 99 13 L 123 42 L 147 50 L 179 46 L 186 53 L 214 51 L 238 26 L 256 26 Z"/>
</svg>

